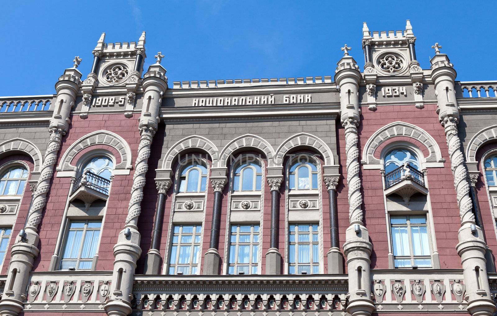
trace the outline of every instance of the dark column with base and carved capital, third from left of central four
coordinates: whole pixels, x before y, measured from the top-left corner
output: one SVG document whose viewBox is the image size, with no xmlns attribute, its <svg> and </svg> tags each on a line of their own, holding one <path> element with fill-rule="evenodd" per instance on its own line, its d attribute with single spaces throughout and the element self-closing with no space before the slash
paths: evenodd
<svg viewBox="0 0 497 316">
<path fill-rule="evenodd" d="M 266 253 L 266 274 L 281 274 L 281 254 L 279 248 L 279 189 L 283 177 L 267 178 L 271 189 L 271 235 L 269 250 Z"/>
</svg>

